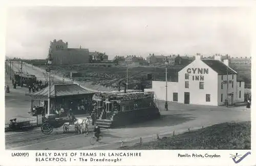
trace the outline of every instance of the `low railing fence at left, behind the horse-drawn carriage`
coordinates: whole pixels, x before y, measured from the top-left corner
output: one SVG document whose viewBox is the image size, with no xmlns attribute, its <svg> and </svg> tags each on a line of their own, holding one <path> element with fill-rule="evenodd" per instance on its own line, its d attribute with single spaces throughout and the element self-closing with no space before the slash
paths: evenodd
<svg viewBox="0 0 256 166">
<path fill-rule="evenodd" d="M 35 118 L 26 118 L 17 120 L 16 125 L 10 127 L 9 123 L 5 124 L 5 132 L 14 130 L 23 130 L 25 128 L 39 127 L 42 124 L 42 116 L 37 115 Z"/>
</svg>

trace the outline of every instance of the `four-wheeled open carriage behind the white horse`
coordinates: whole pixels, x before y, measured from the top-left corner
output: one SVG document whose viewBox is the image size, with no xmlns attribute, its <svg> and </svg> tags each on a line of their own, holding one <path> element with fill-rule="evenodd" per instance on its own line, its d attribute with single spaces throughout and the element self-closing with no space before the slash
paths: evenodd
<svg viewBox="0 0 256 166">
<path fill-rule="evenodd" d="M 63 126 L 63 133 L 69 131 L 69 126 L 74 125 L 75 131 L 80 129 L 78 124 L 70 123 L 70 118 L 55 118 L 55 117 L 48 117 L 41 125 L 41 131 L 44 134 L 50 134 L 53 131 L 53 128 L 59 128 Z"/>
</svg>

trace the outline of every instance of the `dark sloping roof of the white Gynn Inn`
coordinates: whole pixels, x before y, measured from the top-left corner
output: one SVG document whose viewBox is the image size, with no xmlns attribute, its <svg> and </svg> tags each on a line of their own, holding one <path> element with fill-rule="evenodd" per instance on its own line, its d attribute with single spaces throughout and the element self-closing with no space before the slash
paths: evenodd
<svg viewBox="0 0 256 166">
<path fill-rule="evenodd" d="M 218 61 L 218 60 L 201 60 L 203 61 L 206 65 L 208 65 L 210 68 L 212 68 L 214 71 L 216 71 L 218 74 L 237 74 L 236 71 L 231 69 L 230 67 L 226 66 L 223 62 Z"/>
</svg>

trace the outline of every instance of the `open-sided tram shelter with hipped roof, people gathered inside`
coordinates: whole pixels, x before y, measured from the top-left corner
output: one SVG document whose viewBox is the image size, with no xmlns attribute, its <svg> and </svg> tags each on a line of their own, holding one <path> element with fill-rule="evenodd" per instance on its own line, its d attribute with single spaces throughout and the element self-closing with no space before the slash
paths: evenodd
<svg viewBox="0 0 256 166">
<path fill-rule="evenodd" d="M 47 114 L 48 92 L 49 87 L 46 87 L 38 92 L 29 94 L 31 96 L 31 113 L 33 115 Z M 88 114 L 92 110 L 93 95 L 93 92 L 87 91 L 76 84 L 52 85 L 50 114 L 61 111 L 68 115 L 70 109 L 74 114 Z"/>
</svg>

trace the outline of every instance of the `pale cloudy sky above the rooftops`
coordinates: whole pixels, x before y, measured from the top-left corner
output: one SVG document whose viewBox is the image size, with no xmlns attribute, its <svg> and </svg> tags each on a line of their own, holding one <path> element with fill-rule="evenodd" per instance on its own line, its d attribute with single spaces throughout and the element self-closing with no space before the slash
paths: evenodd
<svg viewBox="0 0 256 166">
<path fill-rule="evenodd" d="M 47 58 L 50 41 L 115 56 L 215 53 L 250 57 L 246 7 L 12 7 L 6 56 Z"/>
</svg>

